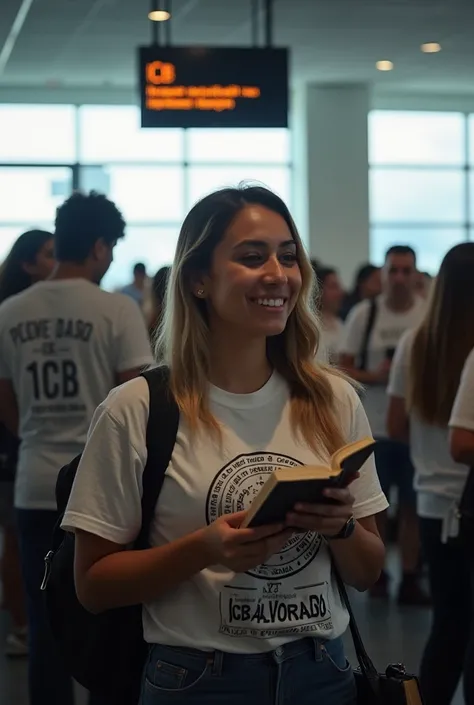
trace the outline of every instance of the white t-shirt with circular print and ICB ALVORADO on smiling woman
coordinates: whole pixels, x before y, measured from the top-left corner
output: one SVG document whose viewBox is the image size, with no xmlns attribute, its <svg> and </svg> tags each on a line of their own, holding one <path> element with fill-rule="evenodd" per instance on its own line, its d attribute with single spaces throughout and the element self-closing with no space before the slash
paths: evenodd
<svg viewBox="0 0 474 705">
<path fill-rule="evenodd" d="M 370 435 L 353 389 L 344 380 L 331 380 L 345 438 Z M 136 538 L 148 404 L 144 379 L 112 391 L 101 404 L 63 528 L 79 528 L 119 544 Z M 211 387 L 210 408 L 221 424 L 222 444 L 205 432 L 192 438 L 180 420 L 152 525 L 153 546 L 201 529 L 223 513 L 247 508 L 276 467 L 328 461 L 326 452 L 316 455 L 291 433 L 289 389 L 276 373 L 252 394 Z M 355 517 L 387 507 L 373 459 L 351 488 Z M 336 638 L 347 623 L 328 547 L 314 532 L 294 535 L 268 563 L 248 573 L 211 566 L 144 606 L 149 643 L 236 653 L 273 650 L 309 635 Z"/>
</svg>

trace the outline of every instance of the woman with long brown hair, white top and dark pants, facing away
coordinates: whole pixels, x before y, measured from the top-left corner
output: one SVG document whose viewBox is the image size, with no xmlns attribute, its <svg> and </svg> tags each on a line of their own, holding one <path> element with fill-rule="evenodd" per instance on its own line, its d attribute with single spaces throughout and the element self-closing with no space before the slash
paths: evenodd
<svg viewBox="0 0 474 705">
<path fill-rule="evenodd" d="M 433 599 L 420 672 L 426 705 L 451 702 L 463 664 L 465 700 L 474 704 L 473 679 L 466 678 L 474 665 L 471 660 L 468 668 L 465 660 L 469 642 L 474 653 L 470 581 L 458 521 L 467 467 L 452 459 L 448 431 L 463 365 L 474 348 L 473 282 L 474 243 L 457 245 L 441 264 L 424 320 L 400 341 L 388 387 L 389 435 L 410 442 Z"/>
</svg>

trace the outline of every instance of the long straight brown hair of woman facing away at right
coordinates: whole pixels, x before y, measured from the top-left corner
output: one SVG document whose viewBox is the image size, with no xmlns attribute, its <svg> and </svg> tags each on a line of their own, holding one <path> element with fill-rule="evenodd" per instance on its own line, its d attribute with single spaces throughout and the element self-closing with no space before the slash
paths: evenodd
<svg viewBox="0 0 474 705">
<path fill-rule="evenodd" d="M 474 242 L 444 257 L 411 353 L 408 406 L 446 427 L 466 358 L 474 348 Z"/>
</svg>

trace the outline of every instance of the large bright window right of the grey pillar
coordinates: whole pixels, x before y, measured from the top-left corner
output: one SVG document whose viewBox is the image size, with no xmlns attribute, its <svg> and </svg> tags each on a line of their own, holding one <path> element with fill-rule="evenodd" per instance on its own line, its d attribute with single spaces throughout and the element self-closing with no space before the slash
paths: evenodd
<svg viewBox="0 0 474 705">
<path fill-rule="evenodd" d="M 371 258 L 411 245 L 432 274 L 473 239 L 474 116 L 374 111 L 369 116 Z"/>
</svg>

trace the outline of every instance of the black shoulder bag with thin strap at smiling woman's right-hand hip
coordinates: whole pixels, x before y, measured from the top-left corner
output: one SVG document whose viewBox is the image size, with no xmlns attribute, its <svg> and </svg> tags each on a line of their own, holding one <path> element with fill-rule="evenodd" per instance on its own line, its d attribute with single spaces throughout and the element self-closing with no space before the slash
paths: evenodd
<svg viewBox="0 0 474 705">
<path fill-rule="evenodd" d="M 390 664 L 378 673 L 362 641 L 344 581 L 336 565 L 334 571 L 342 601 L 349 613 L 349 628 L 359 668 L 354 671 L 359 705 L 423 705 L 418 679 L 407 673 L 401 663 Z"/>
</svg>

